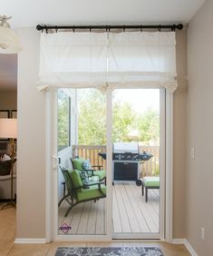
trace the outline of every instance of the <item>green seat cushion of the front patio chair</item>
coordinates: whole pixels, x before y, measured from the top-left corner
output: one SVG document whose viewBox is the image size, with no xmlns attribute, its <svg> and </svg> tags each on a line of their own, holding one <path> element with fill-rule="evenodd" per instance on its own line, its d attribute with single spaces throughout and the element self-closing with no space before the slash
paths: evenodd
<svg viewBox="0 0 213 256">
<path fill-rule="evenodd" d="M 98 185 L 90 187 L 90 189 L 82 189 L 82 192 L 78 192 L 78 200 L 90 200 L 106 196 L 106 187 L 102 185 L 102 192 L 97 188 Z"/>
</svg>

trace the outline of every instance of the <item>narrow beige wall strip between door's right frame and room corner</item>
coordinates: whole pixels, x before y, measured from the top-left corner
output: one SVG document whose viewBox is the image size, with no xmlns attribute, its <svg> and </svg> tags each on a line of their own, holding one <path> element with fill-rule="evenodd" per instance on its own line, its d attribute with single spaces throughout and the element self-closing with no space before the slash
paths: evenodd
<svg viewBox="0 0 213 256">
<path fill-rule="evenodd" d="M 173 238 L 185 237 L 187 30 L 177 31 L 176 60 L 179 87 L 174 94 Z"/>
</svg>

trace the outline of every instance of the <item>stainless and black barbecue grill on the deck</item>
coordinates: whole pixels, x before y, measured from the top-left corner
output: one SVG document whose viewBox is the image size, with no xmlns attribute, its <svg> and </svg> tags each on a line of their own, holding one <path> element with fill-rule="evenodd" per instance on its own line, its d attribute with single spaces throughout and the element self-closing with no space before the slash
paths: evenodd
<svg viewBox="0 0 213 256">
<path fill-rule="evenodd" d="M 106 153 L 99 153 L 106 159 Z M 150 160 L 152 154 L 140 153 L 138 143 L 113 143 L 112 179 L 113 181 L 138 181 L 139 164 Z"/>
</svg>

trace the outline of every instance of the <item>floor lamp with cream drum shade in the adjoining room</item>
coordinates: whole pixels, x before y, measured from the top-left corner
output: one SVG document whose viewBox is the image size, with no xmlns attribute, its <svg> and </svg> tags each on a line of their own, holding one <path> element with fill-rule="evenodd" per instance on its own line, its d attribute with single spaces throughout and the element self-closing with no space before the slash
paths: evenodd
<svg viewBox="0 0 213 256">
<path fill-rule="evenodd" d="M 11 205 L 15 206 L 14 203 L 14 162 L 15 162 L 15 142 L 14 139 L 17 138 L 17 119 L 8 119 L 8 118 L 0 118 L 0 138 L 9 138 L 11 143 L 11 201 L 7 202 L 5 205 L 1 207 L 2 210 L 5 206 Z"/>
</svg>

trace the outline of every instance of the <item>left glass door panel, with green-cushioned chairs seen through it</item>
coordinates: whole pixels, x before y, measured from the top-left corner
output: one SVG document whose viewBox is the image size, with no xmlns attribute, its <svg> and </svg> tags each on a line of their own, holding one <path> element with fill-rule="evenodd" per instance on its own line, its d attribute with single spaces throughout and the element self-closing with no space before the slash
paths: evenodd
<svg viewBox="0 0 213 256">
<path fill-rule="evenodd" d="M 58 90 L 58 234 L 106 234 L 106 162 L 100 153 L 106 153 L 105 95 Z"/>
</svg>

